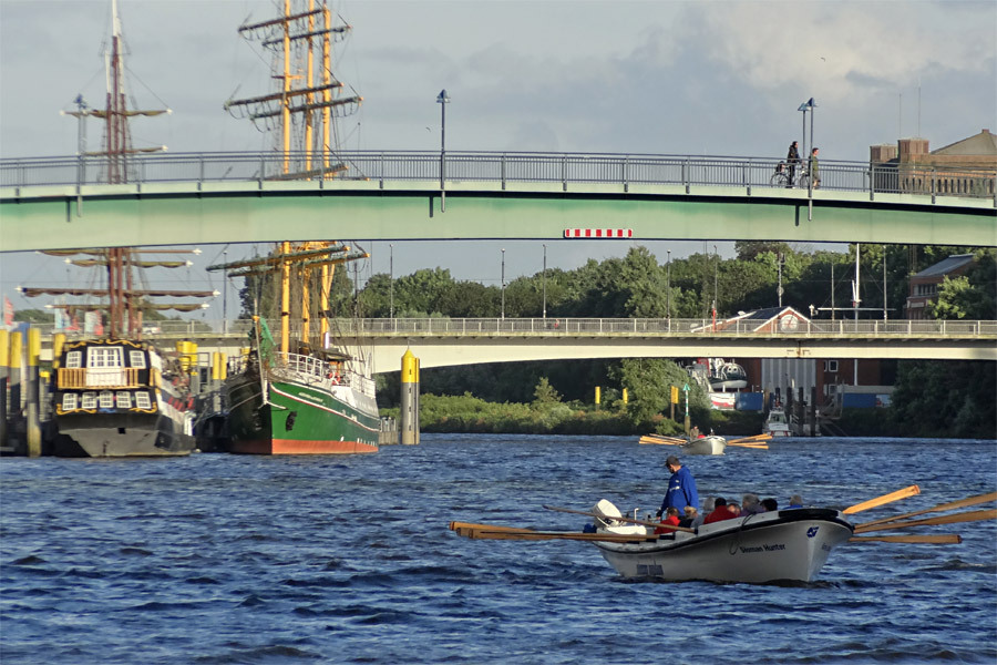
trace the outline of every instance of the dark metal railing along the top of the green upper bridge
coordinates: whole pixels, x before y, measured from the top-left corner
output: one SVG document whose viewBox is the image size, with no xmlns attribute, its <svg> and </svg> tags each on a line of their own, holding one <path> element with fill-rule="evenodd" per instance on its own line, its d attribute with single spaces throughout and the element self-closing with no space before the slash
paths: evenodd
<svg viewBox="0 0 997 665">
<path fill-rule="evenodd" d="M 630 185 L 692 187 L 783 188 L 773 182 L 773 157 L 696 155 L 342 151 L 347 170 L 338 181 L 444 181 L 493 183 L 502 188 L 527 183 L 571 185 L 609 184 L 620 191 Z M 287 158 L 287 162 L 286 162 Z M 124 167 L 129 183 L 265 182 L 321 180 L 315 175 L 318 155 L 284 153 L 160 153 L 133 155 Z M 0 186 L 101 185 L 107 183 L 110 162 L 100 156 L 24 157 L 0 160 Z M 287 166 L 286 166 L 287 165 Z M 121 170 L 121 165 L 116 164 Z M 289 175 L 287 174 L 289 170 Z M 296 176 L 309 172 L 311 177 Z M 321 171 L 321 170 L 319 170 Z M 798 166 L 796 173 L 805 171 Z M 822 160 L 821 190 L 908 193 L 929 196 L 988 197 L 997 201 L 997 170 L 906 164 L 874 164 Z"/>
</svg>

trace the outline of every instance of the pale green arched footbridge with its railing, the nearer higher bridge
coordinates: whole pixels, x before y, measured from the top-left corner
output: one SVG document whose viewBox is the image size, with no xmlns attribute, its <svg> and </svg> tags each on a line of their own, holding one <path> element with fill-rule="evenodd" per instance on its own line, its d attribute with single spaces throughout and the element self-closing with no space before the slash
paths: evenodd
<svg viewBox="0 0 997 665">
<path fill-rule="evenodd" d="M 0 249 L 278 241 L 621 238 L 997 246 L 997 173 L 821 162 L 819 188 L 769 157 L 341 152 L 0 160 Z"/>
</svg>

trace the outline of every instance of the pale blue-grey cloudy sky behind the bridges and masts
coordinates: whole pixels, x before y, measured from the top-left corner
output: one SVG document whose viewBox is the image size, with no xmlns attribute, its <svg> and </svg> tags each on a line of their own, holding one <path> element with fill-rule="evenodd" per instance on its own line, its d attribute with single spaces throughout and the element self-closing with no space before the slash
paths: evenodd
<svg viewBox="0 0 997 665">
<path fill-rule="evenodd" d="M 997 2 L 343 0 L 352 25 L 340 80 L 363 96 L 343 147 L 784 156 L 810 98 L 823 160 L 866 160 L 868 146 L 923 136 L 935 150 L 997 131 Z M 258 151 L 269 139 L 223 110 L 268 91 L 268 59 L 241 39 L 269 0 L 120 0 L 133 106 L 172 113 L 133 123 L 135 145 L 171 152 Z M 71 155 L 78 94 L 104 96 L 111 0 L 0 0 L 0 156 Z M 810 119 L 808 119 L 810 120 Z M 808 133 L 810 129 L 808 127 Z M 89 142 L 100 129 L 89 129 Z M 808 137 L 809 143 L 809 137 Z M 2 219 L 0 219 L 2 223 Z M 702 243 L 549 243 L 547 266 L 621 256 L 660 262 Z M 537 243 L 376 243 L 366 274 L 442 267 L 458 279 L 506 282 L 542 269 Z M 706 248 L 712 252 L 712 245 Z M 203 247 L 201 265 L 245 246 Z M 721 256 L 732 244 L 721 244 Z M 64 282 L 37 257 L 0 255 L 0 288 Z M 58 259 L 56 259 L 58 264 Z M 217 278 L 214 278 L 217 283 Z M 202 284 L 192 286 L 199 288 Z M 230 298 L 230 297 L 229 297 Z M 229 314 L 232 314 L 229 299 Z M 216 314 L 210 316 L 220 316 Z"/>
</svg>

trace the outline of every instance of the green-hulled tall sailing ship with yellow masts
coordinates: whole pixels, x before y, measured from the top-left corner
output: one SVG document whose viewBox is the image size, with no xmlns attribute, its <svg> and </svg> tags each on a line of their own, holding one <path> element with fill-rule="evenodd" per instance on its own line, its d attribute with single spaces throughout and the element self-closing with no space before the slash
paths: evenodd
<svg viewBox="0 0 997 665">
<path fill-rule="evenodd" d="M 354 111 L 361 98 L 343 92 L 331 62 L 332 43 L 347 31 L 315 0 L 296 7 L 285 0 L 282 16 L 239 28 L 275 55 L 277 90 L 226 103 L 234 115 L 275 130 L 279 167 L 267 178 L 341 177 L 347 171 L 336 151 L 335 119 Z M 336 267 L 367 256 L 339 242 L 284 242 L 266 257 L 208 268 L 279 285 L 279 340 L 264 317 L 254 317 L 251 350 L 225 385 L 230 452 L 377 452 L 380 418 L 369 359 L 342 348 L 329 323 Z"/>
</svg>

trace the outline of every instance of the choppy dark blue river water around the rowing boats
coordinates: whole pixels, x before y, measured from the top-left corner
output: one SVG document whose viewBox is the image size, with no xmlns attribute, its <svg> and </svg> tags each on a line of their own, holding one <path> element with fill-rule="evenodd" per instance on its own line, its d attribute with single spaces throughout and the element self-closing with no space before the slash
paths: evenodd
<svg viewBox="0 0 997 665">
<path fill-rule="evenodd" d="M 579 530 L 654 510 L 670 447 L 424 436 L 376 456 L 0 461 L 8 663 L 997 661 L 997 524 L 959 545 L 846 544 L 810 585 L 619 579 L 577 542 L 470 541 L 450 520 Z M 690 457 L 701 495 L 874 519 L 997 489 L 997 443 L 791 440 Z M 984 507 L 979 507 L 984 508 Z M 975 509 L 972 509 L 975 510 Z M 861 521 L 856 520 L 856 521 Z"/>
</svg>

